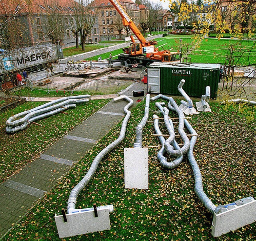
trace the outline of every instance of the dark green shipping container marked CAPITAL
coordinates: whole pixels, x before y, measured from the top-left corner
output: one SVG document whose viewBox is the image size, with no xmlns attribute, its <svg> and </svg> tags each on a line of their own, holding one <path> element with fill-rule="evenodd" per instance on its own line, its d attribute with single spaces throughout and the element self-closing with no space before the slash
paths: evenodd
<svg viewBox="0 0 256 241">
<path fill-rule="evenodd" d="M 205 87 L 210 86 L 210 98 L 216 99 L 219 78 L 219 64 L 155 62 L 148 67 L 148 92 L 181 95 L 177 87 L 184 79 L 182 89 L 189 97 L 201 98 Z"/>
</svg>

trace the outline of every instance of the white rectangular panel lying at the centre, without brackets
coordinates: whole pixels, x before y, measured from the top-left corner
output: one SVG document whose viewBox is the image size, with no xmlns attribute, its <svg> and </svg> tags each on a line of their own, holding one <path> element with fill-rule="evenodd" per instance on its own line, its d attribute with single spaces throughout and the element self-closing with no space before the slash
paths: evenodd
<svg viewBox="0 0 256 241">
<path fill-rule="evenodd" d="M 124 187 L 148 189 L 148 148 L 124 148 Z"/>
</svg>

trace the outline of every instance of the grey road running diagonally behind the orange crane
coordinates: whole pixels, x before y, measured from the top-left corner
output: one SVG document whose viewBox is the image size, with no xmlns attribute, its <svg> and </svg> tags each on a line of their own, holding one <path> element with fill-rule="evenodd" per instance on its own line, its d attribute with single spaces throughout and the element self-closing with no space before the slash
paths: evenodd
<svg viewBox="0 0 256 241">
<path fill-rule="evenodd" d="M 162 37 L 162 34 L 150 36 L 146 39 L 147 40 L 152 40 L 152 39 L 156 39 L 156 38 L 160 38 L 160 37 Z M 128 46 L 130 46 L 130 41 L 127 41 L 125 43 L 119 43 L 119 44 L 112 45 L 112 46 L 108 46 L 108 47 L 105 47 L 105 48 L 102 48 L 102 49 L 96 49 L 94 51 L 90 51 L 90 52 L 86 52 L 86 53 L 81 53 L 79 55 L 73 55 L 73 56 L 70 56 L 70 57 L 65 57 L 63 60 L 60 61 L 60 63 L 67 63 L 67 61 L 69 61 L 69 60 L 75 60 L 76 61 L 76 60 L 87 59 L 87 58 L 90 58 L 90 57 L 94 57 L 96 55 L 100 55 L 100 54 L 103 54 L 103 53 L 108 53 L 108 52 L 111 52 L 111 51 L 114 51 L 114 50 L 117 50 L 117 49 L 121 49 L 121 48 L 124 48 L 124 47 L 128 47 Z"/>
</svg>

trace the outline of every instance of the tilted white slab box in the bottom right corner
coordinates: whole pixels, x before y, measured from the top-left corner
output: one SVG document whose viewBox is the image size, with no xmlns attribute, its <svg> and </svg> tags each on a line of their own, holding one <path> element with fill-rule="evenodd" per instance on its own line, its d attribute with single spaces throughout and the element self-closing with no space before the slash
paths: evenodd
<svg viewBox="0 0 256 241">
<path fill-rule="evenodd" d="M 214 210 L 212 236 L 219 237 L 230 231 L 256 221 L 256 200 L 242 198 L 227 205 L 219 205 Z"/>
</svg>

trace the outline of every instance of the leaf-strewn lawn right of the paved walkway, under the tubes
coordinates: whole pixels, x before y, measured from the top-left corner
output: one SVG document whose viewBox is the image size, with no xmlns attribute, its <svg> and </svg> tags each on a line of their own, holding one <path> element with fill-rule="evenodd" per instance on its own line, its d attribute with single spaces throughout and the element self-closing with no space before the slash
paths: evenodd
<svg viewBox="0 0 256 241">
<path fill-rule="evenodd" d="M 212 215 L 194 193 L 194 175 L 186 155 L 180 166 L 166 170 L 156 160 L 159 148 L 150 148 L 149 189 L 124 188 L 123 149 L 133 146 L 135 126 L 144 115 L 144 104 L 145 100 L 132 109 L 126 138 L 103 158 L 94 177 L 78 196 L 77 208 L 92 207 L 93 203 L 114 205 L 115 212 L 110 214 L 111 230 L 65 240 L 216 240 L 211 235 Z M 189 120 L 198 133 L 194 155 L 202 172 L 204 190 L 217 205 L 254 196 L 254 123 L 246 122 L 244 114 L 238 115 L 238 105 L 224 106 L 211 101 L 210 106 L 212 113 L 200 113 Z M 150 109 L 156 111 L 153 103 Z M 150 111 L 149 121 L 153 114 Z M 170 116 L 176 117 L 172 112 Z M 163 134 L 167 134 L 164 124 L 160 125 Z M 174 124 L 176 131 L 177 125 Z M 59 240 L 55 213 L 60 215 L 61 209 L 66 208 L 70 191 L 86 174 L 96 155 L 116 140 L 120 126 L 121 123 L 110 130 L 3 240 Z M 144 146 L 159 145 L 153 133 L 154 124 L 148 122 L 143 130 Z M 218 240 L 255 240 L 255 227 L 255 223 L 247 225 Z"/>
</svg>

